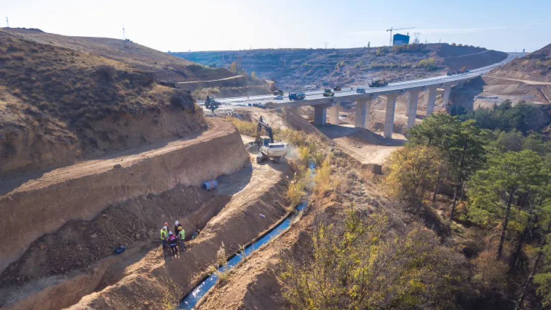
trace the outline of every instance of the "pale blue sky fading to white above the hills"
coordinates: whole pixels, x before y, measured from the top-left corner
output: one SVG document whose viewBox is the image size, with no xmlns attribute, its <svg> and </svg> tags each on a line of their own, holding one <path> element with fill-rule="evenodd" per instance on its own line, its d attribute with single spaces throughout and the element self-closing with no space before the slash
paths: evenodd
<svg viewBox="0 0 551 310">
<path fill-rule="evenodd" d="M 122 38 L 161 51 L 388 44 L 416 27 L 428 42 L 500 51 L 551 43 L 551 0 L 0 0 L 11 27 Z M 5 20 L 0 25 L 5 26 Z"/>
</svg>

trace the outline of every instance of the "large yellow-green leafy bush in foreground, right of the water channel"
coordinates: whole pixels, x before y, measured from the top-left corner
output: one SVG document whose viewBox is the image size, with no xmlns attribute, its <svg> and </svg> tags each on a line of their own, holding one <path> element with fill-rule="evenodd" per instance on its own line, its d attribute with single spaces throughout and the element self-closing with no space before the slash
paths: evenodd
<svg viewBox="0 0 551 310">
<path fill-rule="evenodd" d="M 453 254 L 424 227 L 391 232 L 386 215 L 314 225 L 312 253 L 282 258 L 283 295 L 298 309 L 452 308 Z"/>
</svg>

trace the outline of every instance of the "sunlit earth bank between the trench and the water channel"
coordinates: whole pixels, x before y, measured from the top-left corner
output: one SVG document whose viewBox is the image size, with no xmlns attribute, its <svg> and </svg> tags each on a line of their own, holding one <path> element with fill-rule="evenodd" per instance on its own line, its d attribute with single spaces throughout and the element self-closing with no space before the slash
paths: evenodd
<svg viewBox="0 0 551 310">
<path fill-rule="evenodd" d="M 182 298 L 206 275 L 221 246 L 227 255 L 235 253 L 287 215 L 284 194 L 290 176 L 285 165 L 254 166 L 247 185 L 210 219 L 196 240 L 188 242 L 187 252 L 163 259 L 149 251 L 129 265 L 126 269 L 132 272 L 116 284 L 83 297 L 69 309 L 160 309 L 172 297 Z"/>
</svg>

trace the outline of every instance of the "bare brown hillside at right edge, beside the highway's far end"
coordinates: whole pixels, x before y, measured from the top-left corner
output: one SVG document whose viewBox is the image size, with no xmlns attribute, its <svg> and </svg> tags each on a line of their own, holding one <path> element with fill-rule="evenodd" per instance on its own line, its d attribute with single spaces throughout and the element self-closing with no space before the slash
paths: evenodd
<svg viewBox="0 0 551 310">
<path fill-rule="evenodd" d="M 489 76 L 551 82 L 551 44 L 514 59 L 488 73 Z"/>
</svg>

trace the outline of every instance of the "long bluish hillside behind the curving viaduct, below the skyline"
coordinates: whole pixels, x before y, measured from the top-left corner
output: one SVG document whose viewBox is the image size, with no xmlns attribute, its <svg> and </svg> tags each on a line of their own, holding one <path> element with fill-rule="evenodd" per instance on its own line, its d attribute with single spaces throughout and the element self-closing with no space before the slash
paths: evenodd
<svg viewBox="0 0 551 310">
<path fill-rule="evenodd" d="M 378 78 L 391 81 L 441 75 L 449 68 L 487 66 L 506 58 L 506 53 L 485 48 L 447 44 L 344 49 L 278 49 L 249 51 L 172 52 L 189 61 L 229 68 L 241 62 L 248 73 L 276 81 L 285 90 L 305 85 L 320 89 L 332 85 L 365 85 Z"/>
</svg>

